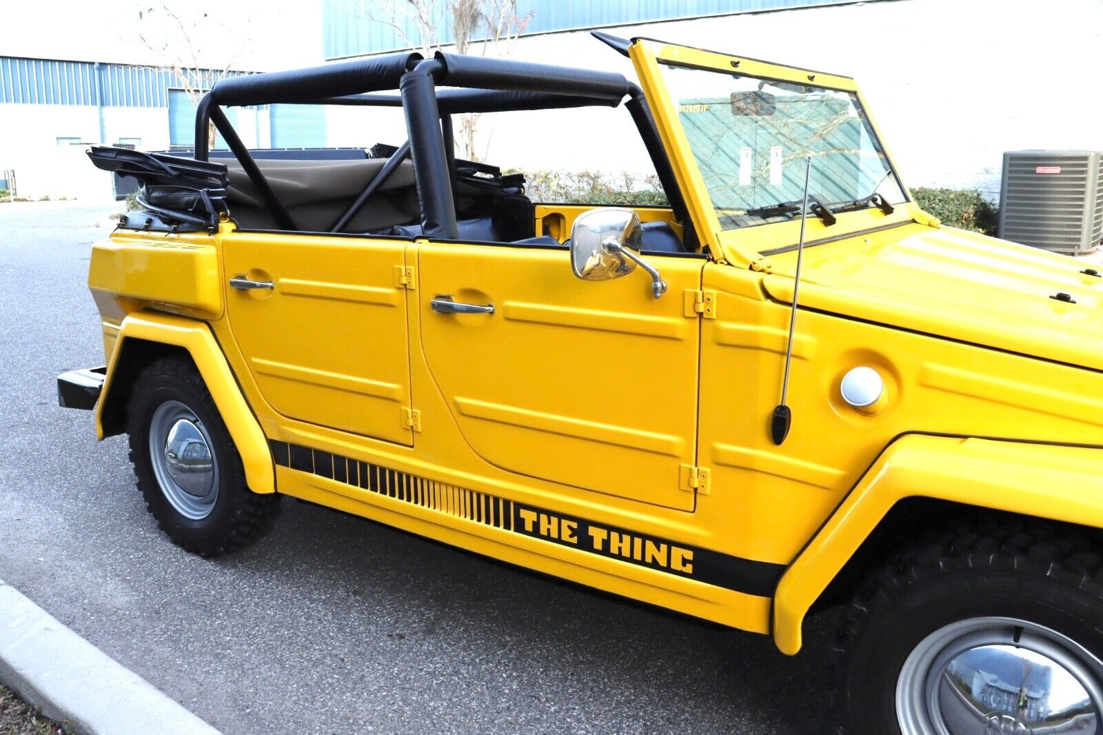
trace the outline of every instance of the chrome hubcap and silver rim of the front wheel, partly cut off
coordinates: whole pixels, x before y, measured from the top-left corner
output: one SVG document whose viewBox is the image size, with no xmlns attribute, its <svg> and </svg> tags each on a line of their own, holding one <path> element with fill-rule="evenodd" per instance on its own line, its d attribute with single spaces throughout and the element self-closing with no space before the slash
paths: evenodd
<svg viewBox="0 0 1103 735">
<path fill-rule="evenodd" d="M 911 652 L 896 705 L 903 735 L 1103 735 L 1103 662 L 1043 626 L 961 620 Z"/>
</svg>

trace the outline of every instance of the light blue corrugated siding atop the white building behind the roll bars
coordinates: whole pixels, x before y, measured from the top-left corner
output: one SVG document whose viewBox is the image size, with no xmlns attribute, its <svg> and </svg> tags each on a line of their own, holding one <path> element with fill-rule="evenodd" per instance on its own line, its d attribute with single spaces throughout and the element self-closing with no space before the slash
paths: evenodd
<svg viewBox="0 0 1103 735">
<path fill-rule="evenodd" d="M 853 2 L 854 0 L 518 0 L 517 13 L 528 17 L 525 33 L 546 33 L 597 25 L 625 25 L 646 21 L 717 15 L 756 10 L 778 10 L 805 6 Z M 867 0 L 875 1 L 875 0 Z M 390 17 L 371 0 L 323 0 L 322 53 L 325 58 L 374 54 L 408 47 L 401 34 L 389 25 Z M 401 4 L 401 3 L 396 3 Z M 450 19 L 438 12 L 445 30 L 441 42 L 452 40 Z M 374 15 L 374 18 L 373 18 Z M 397 13 L 396 21 L 404 25 L 406 36 L 418 38 L 413 22 Z M 381 22 L 387 21 L 387 22 Z"/>
</svg>

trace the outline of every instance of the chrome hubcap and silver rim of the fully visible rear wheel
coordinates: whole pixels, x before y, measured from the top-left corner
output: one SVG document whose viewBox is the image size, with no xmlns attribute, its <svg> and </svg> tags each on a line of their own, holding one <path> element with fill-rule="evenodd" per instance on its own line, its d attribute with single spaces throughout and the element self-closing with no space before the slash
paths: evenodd
<svg viewBox="0 0 1103 735">
<path fill-rule="evenodd" d="M 167 401 L 153 412 L 149 455 L 161 492 L 178 512 L 199 521 L 218 498 L 218 465 L 206 427 L 191 408 Z"/>
</svg>

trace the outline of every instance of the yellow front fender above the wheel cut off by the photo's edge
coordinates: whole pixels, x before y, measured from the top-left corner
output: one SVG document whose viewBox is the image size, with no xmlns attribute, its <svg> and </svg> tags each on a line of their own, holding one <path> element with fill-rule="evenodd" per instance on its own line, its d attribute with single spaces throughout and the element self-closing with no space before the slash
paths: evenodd
<svg viewBox="0 0 1103 735">
<path fill-rule="evenodd" d="M 889 509 L 922 497 L 1103 528 L 1103 449 L 907 435 L 870 467 L 790 565 L 773 601 L 773 637 L 801 649 L 808 608 Z"/>
</svg>

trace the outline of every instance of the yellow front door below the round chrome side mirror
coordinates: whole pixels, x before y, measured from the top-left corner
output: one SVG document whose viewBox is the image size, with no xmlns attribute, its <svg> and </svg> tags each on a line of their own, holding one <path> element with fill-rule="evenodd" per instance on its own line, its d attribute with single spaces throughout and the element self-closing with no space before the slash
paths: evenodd
<svg viewBox="0 0 1103 735">
<path fill-rule="evenodd" d="M 420 243 L 421 349 L 460 430 L 500 468 L 693 510 L 703 258 L 579 280 L 563 247 Z M 442 313 L 433 299 L 493 306 Z M 693 313 L 693 309 L 689 309 Z M 685 489 L 682 489 L 685 486 Z"/>
</svg>

